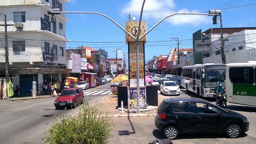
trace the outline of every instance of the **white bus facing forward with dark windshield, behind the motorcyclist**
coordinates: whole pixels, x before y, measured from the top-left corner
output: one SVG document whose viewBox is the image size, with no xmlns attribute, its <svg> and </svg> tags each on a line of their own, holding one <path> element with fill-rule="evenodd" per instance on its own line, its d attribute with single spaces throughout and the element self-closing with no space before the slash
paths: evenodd
<svg viewBox="0 0 256 144">
<path fill-rule="evenodd" d="M 186 92 L 191 91 L 199 98 L 214 97 L 217 82 L 225 86 L 226 64 L 196 64 L 183 66 L 181 73 L 181 86 Z"/>
</svg>

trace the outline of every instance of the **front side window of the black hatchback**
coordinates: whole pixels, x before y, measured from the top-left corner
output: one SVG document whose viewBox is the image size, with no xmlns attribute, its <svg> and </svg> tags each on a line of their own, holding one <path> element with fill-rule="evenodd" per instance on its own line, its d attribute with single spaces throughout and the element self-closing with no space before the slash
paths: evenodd
<svg viewBox="0 0 256 144">
<path fill-rule="evenodd" d="M 205 103 L 196 103 L 197 113 L 218 114 L 218 109 Z"/>
</svg>

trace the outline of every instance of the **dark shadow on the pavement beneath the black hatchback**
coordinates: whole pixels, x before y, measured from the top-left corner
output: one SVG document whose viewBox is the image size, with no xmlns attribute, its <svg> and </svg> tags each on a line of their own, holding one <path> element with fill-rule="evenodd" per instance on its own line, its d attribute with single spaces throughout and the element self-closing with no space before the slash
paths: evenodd
<svg viewBox="0 0 256 144">
<path fill-rule="evenodd" d="M 152 131 L 153 135 L 155 138 L 158 139 L 165 139 L 166 137 L 158 130 L 158 129 L 154 129 Z M 240 135 L 240 137 L 246 137 L 247 134 L 246 133 L 242 133 Z M 202 138 L 227 138 L 227 136 L 225 134 L 180 134 L 178 136 L 178 139 L 182 140 L 182 139 L 202 139 Z"/>
</svg>

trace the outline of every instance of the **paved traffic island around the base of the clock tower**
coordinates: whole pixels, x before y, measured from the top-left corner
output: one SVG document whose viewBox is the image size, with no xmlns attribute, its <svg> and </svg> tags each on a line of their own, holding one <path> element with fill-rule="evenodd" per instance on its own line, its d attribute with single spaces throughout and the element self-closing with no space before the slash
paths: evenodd
<svg viewBox="0 0 256 144">
<path fill-rule="evenodd" d="M 140 109 L 140 113 L 137 113 L 137 109 L 127 109 L 124 107 L 121 111 L 121 107 L 118 107 L 117 96 L 110 95 L 103 100 L 95 104 L 95 108 L 100 112 L 112 117 L 124 117 L 124 116 L 154 116 L 156 115 L 155 106 L 148 106 L 147 109 Z"/>
</svg>

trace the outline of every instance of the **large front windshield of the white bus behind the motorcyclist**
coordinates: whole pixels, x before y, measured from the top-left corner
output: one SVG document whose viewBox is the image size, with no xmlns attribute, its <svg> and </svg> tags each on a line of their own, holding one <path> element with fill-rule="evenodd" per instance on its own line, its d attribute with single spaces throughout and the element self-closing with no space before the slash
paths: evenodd
<svg viewBox="0 0 256 144">
<path fill-rule="evenodd" d="M 205 70 L 205 87 L 215 86 L 217 82 L 221 82 L 225 86 L 226 70 L 225 69 L 208 69 Z"/>
</svg>

